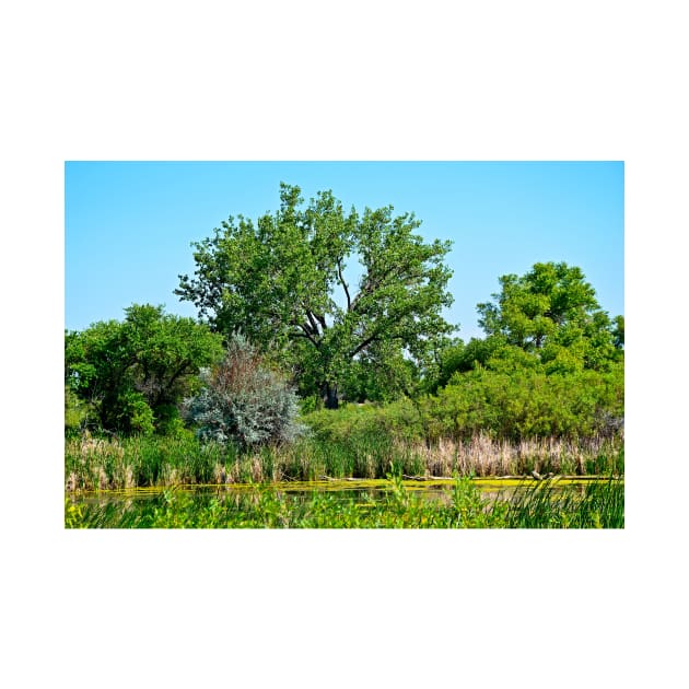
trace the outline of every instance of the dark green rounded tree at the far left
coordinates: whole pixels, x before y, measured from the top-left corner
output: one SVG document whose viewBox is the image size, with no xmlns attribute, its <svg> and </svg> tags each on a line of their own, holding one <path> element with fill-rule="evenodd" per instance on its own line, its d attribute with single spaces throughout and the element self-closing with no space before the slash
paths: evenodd
<svg viewBox="0 0 689 689">
<path fill-rule="evenodd" d="M 65 334 L 65 383 L 108 431 L 151 432 L 174 423 L 199 369 L 222 357 L 222 340 L 192 318 L 133 304 L 125 320 Z"/>
</svg>

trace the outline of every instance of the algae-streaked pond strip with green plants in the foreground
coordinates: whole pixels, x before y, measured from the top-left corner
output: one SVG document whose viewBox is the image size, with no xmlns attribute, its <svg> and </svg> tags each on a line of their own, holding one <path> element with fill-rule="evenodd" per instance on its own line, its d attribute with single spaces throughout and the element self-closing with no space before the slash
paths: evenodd
<svg viewBox="0 0 689 689">
<path fill-rule="evenodd" d="M 411 478 L 411 477 L 410 477 Z M 623 527 L 623 479 L 327 480 L 68 493 L 67 527 Z"/>
</svg>

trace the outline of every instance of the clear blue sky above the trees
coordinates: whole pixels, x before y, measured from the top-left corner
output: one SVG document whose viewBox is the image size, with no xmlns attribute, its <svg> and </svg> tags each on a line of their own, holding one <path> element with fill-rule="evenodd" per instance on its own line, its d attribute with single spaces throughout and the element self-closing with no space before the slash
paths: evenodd
<svg viewBox="0 0 689 689">
<path fill-rule="evenodd" d="M 65 327 L 121 319 L 132 303 L 196 316 L 173 294 L 194 272 L 190 243 L 229 215 L 279 206 L 279 184 L 346 209 L 413 211 L 428 240 L 452 240 L 459 337 L 481 336 L 476 304 L 498 277 L 537 261 L 579 266 L 610 315 L 624 313 L 622 162 L 67 162 Z"/>
</svg>

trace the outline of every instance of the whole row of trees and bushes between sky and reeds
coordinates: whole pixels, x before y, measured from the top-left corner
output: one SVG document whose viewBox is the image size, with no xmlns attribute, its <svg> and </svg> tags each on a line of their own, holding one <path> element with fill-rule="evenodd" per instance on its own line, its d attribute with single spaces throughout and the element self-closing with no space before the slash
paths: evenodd
<svg viewBox="0 0 689 689">
<path fill-rule="evenodd" d="M 440 315 L 447 243 L 424 243 L 392 208 L 347 214 L 329 191 L 302 203 L 282 185 L 275 214 L 230 218 L 195 245 L 195 278 L 176 293 L 199 320 L 135 304 L 66 331 L 66 433 L 238 448 L 289 443 L 302 422 L 320 440 L 621 436 L 624 320 L 581 269 L 501 277 L 477 306 L 484 337 L 464 342 Z"/>
</svg>

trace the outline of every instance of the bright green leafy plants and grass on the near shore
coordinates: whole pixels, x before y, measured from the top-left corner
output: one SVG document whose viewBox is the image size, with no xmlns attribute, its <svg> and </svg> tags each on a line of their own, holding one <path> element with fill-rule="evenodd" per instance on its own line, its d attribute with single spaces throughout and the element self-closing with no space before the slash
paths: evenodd
<svg viewBox="0 0 689 689">
<path fill-rule="evenodd" d="M 582 493 L 542 481 L 510 500 L 487 498 L 457 479 L 444 499 L 405 489 L 388 476 L 383 498 L 314 491 L 308 497 L 264 486 L 250 492 L 191 495 L 166 490 L 156 499 L 105 503 L 66 500 L 68 528 L 621 528 L 619 479 L 591 482 Z"/>
</svg>

